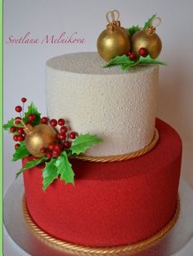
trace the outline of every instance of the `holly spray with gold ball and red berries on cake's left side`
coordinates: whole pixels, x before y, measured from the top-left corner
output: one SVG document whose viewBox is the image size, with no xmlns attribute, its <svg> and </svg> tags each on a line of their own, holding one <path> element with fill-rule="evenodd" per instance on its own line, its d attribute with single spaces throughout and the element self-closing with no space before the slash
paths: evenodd
<svg viewBox="0 0 193 256">
<path fill-rule="evenodd" d="M 15 110 L 20 117 L 11 118 L 4 125 L 5 130 L 10 130 L 16 141 L 13 161 L 34 155 L 25 167 L 16 172 L 16 177 L 23 171 L 45 163 L 43 168 L 43 190 L 47 189 L 56 178 L 65 183 L 74 184 L 74 171 L 70 158 L 85 153 L 93 144 L 101 143 L 102 139 L 96 135 L 79 135 L 76 131 L 69 130 L 65 119 L 48 119 L 42 117 L 34 103 L 24 113 L 26 98 L 21 98 L 23 106 L 16 106 Z M 21 112 L 22 115 L 21 115 Z M 44 136 L 46 134 L 46 136 Z M 35 136 L 35 147 L 34 147 Z M 38 139 L 38 144 L 37 144 Z"/>
</svg>

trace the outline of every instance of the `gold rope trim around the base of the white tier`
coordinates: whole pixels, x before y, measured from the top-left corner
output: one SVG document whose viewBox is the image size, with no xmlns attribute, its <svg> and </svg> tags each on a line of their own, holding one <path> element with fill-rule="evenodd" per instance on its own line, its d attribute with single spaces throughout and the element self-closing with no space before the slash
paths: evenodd
<svg viewBox="0 0 193 256">
<path fill-rule="evenodd" d="M 85 154 L 80 154 L 79 156 L 76 156 L 74 158 L 88 161 L 88 162 L 119 162 L 123 160 L 128 160 L 131 158 L 137 158 L 145 153 L 148 153 L 151 149 L 155 147 L 159 140 L 159 131 L 155 128 L 155 133 L 153 139 L 150 141 L 150 144 L 146 145 L 143 149 L 139 149 L 132 153 L 125 153 L 122 155 L 114 155 L 114 156 L 108 156 L 108 157 L 92 157 Z"/>
</svg>

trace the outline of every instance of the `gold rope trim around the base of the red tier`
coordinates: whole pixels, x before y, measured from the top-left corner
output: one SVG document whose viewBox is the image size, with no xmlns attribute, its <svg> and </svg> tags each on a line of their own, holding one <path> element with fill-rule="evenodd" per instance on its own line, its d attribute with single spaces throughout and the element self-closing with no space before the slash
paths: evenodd
<svg viewBox="0 0 193 256">
<path fill-rule="evenodd" d="M 52 246 L 56 249 L 62 250 L 66 254 L 72 255 L 81 255 L 81 256 L 100 256 L 100 255 L 128 255 L 129 253 L 133 253 L 136 250 L 143 249 L 147 245 L 151 245 L 155 243 L 155 241 L 162 238 L 168 231 L 172 229 L 172 227 L 177 222 L 177 218 L 180 213 L 180 198 L 177 197 L 177 206 L 176 211 L 173 214 L 173 218 L 166 226 L 164 226 L 160 231 L 158 231 L 155 235 L 147 238 L 146 240 L 141 240 L 140 242 L 133 243 L 131 245 L 121 245 L 114 247 L 105 247 L 105 248 L 97 248 L 97 247 L 89 247 L 83 245 L 75 245 L 73 243 L 65 242 L 64 240 L 56 239 L 54 236 L 47 234 L 45 231 L 41 230 L 32 220 L 29 215 L 29 210 L 26 205 L 25 195 L 23 197 L 23 211 L 25 215 L 25 220 L 29 224 L 31 231 L 34 232 L 34 235 L 38 236 L 38 239 L 43 240 L 47 245 Z"/>
</svg>

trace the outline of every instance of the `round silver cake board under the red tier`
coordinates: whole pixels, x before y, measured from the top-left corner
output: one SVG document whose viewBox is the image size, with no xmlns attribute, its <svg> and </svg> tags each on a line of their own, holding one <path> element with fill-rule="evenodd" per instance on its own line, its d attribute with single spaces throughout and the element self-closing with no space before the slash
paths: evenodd
<svg viewBox="0 0 193 256">
<path fill-rule="evenodd" d="M 176 255 L 177 251 L 186 245 L 193 236 L 193 191 L 185 181 L 181 181 L 179 194 L 181 198 L 181 213 L 173 229 L 164 238 L 155 242 L 155 244 L 128 255 Z M 69 255 L 62 252 L 61 249 L 46 245 L 29 230 L 23 214 L 23 195 L 23 180 L 20 177 L 10 186 L 4 197 L 4 225 L 12 240 L 30 255 Z M 187 254 L 186 256 L 192 255 Z"/>
</svg>

